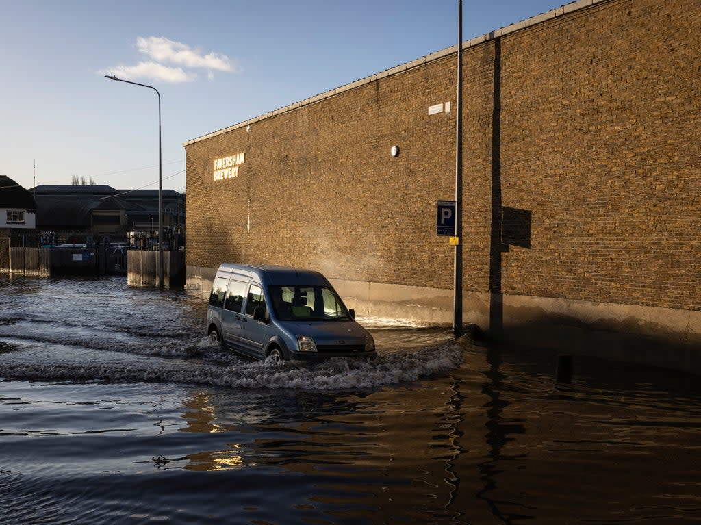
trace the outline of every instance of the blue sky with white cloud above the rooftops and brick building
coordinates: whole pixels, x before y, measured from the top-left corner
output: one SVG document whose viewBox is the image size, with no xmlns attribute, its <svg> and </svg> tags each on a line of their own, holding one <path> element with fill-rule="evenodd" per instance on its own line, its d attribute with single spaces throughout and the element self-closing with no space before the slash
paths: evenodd
<svg viewBox="0 0 701 525">
<path fill-rule="evenodd" d="M 463 0 L 463 40 L 563 0 Z M 0 175 L 185 188 L 189 139 L 457 42 L 457 0 L 0 0 Z"/>
</svg>

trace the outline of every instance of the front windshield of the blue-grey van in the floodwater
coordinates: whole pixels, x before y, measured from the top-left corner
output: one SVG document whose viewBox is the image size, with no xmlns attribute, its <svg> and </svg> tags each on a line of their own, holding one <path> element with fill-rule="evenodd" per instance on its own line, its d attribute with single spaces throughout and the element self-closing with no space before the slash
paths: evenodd
<svg viewBox="0 0 701 525">
<path fill-rule="evenodd" d="M 346 306 L 326 286 L 268 286 L 275 318 L 281 321 L 351 320 Z"/>
</svg>

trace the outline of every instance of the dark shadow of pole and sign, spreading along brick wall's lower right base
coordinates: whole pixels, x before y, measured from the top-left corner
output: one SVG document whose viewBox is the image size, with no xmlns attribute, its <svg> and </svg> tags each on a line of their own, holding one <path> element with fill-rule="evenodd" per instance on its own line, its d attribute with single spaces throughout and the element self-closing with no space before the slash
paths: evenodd
<svg viewBox="0 0 701 525">
<path fill-rule="evenodd" d="M 510 246 L 531 248 L 531 210 L 502 205 L 501 187 L 501 39 L 494 40 L 494 91 L 491 139 L 491 231 L 489 249 L 489 336 L 517 342 L 524 348 L 550 348 L 608 360 L 652 364 L 657 367 L 701 374 L 701 352 L 697 334 L 640 332 L 626 320 L 599 327 L 578 318 L 539 317 L 538 306 L 524 313 L 508 307 L 505 329 L 502 293 L 503 253 Z M 508 334 L 505 332 L 508 331 Z M 662 351 L 661 351 L 662 350 Z M 498 361 L 496 361 L 498 362 Z M 496 365 L 498 367 L 498 364 Z M 496 374 L 496 368 L 494 373 Z"/>
</svg>

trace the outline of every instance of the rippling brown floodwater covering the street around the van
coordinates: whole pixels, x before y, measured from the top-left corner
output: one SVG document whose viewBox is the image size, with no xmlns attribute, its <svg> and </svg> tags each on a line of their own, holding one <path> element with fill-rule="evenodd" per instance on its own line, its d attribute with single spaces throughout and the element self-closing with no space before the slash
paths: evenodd
<svg viewBox="0 0 701 525">
<path fill-rule="evenodd" d="M 275 365 L 206 302 L 0 276 L 2 524 L 701 521 L 697 378 L 359 321 L 372 362 Z"/>
</svg>

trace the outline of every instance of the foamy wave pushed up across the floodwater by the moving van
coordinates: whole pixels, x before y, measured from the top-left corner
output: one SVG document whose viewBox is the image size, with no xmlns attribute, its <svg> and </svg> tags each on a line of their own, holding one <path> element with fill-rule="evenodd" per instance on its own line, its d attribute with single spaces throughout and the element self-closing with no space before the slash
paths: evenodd
<svg viewBox="0 0 701 525">
<path fill-rule="evenodd" d="M 74 353 L 70 362 L 50 359 L 51 348 L 42 353 L 4 353 L 0 377 L 39 381 L 170 382 L 228 386 L 232 388 L 292 388 L 299 390 L 372 390 L 411 382 L 456 369 L 462 348 L 455 343 L 407 351 L 381 353 L 374 360 L 334 358 L 318 363 L 250 361 L 212 347 L 152 348 L 139 355 L 59 348 L 61 355 Z M 83 354 L 83 357 L 79 357 Z M 109 355 L 107 355 L 109 354 Z M 116 358 L 114 357 L 116 355 Z M 156 357 L 168 355 L 170 358 Z M 10 357 L 19 357 L 11 359 Z M 180 357 L 180 358 L 178 358 Z"/>
</svg>

